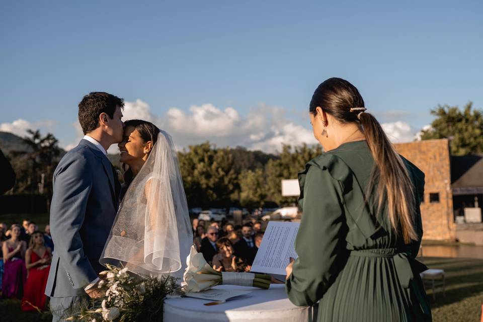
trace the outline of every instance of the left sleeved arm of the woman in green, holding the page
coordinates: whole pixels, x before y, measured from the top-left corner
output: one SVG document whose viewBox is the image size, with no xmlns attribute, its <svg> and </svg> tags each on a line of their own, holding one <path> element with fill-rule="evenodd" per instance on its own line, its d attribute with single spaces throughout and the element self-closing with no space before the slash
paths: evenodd
<svg viewBox="0 0 483 322">
<path fill-rule="evenodd" d="M 345 248 L 343 206 L 326 170 L 310 167 L 303 188 L 303 214 L 295 240 L 297 260 L 285 289 L 295 305 L 312 305 L 337 275 L 338 256 Z"/>
</svg>

